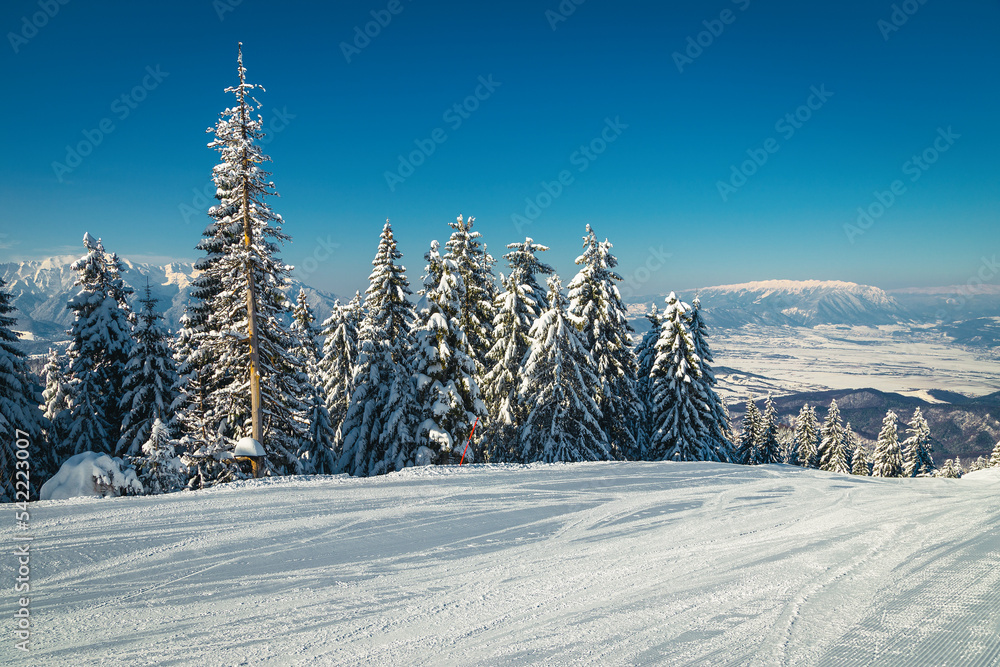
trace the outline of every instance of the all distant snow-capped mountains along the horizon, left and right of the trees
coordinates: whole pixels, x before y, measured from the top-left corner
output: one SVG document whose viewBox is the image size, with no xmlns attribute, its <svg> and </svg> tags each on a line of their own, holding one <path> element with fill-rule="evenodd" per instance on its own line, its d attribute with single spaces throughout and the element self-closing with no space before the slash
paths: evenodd
<svg viewBox="0 0 1000 667">
<path fill-rule="evenodd" d="M 76 294 L 76 272 L 70 266 L 77 255 L 39 261 L 0 264 L 0 277 L 14 294 L 18 323 L 30 354 L 39 354 L 67 340 L 73 313 L 66 304 Z M 138 294 L 149 280 L 160 300 L 167 326 L 176 331 L 190 299 L 193 264 L 165 265 L 122 260 L 123 277 Z M 336 296 L 292 280 L 287 288 L 295 299 L 304 288 L 318 321 L 330 314 Z M 996 289 L 993 289 L 996 288 Z M 680 292 L 685 301 L 701 299 L 706 320 L 712 327 L 737 328 L 746 324 L 813 327 L 834 324 L 877 326 L 905 321 L 957 322 L 1000 313 L 1000 287 L 979 286 L 974 293 L 962 287 L 906 289 L 886 292 L 878 287 L 843 281 L 765 280 L 738 285 L 703 287 Z M 629 316 L 637 329 L 645 328 L 642 315 L 656 303 L 663 310 L 663 295 L 632 297 Z"/>
</svg>

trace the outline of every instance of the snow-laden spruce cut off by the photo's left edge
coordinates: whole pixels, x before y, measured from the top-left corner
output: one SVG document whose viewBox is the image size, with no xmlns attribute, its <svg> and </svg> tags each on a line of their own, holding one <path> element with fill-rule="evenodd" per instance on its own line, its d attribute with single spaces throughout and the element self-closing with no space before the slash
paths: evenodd
<svg viewBox="0 0 1000 667">
<path fill-rule="evenodd" d="M 23 469 L 17 463 L 18 439 L 27 439 L 29 457 L 40 459 L 27 471 L 32 499 L 37 497 L 35 484 L 55 472 L 39 465 L 43 458 L 39 454 L 42 451 L 42 427 L 45 425 L 39 409 L 41 396 L 35 390 L 24 351 L 17 344 L 18 335 L 12 329 L 17 323 L 17 319 L 11 316 L 15 310 L 12 298 L 6 283 L 0 279 L 0 502 L 18 499 L 15 466 L 17 470 Z M 31 484 L 32 481 L 34 484 Z"/>
</svg>

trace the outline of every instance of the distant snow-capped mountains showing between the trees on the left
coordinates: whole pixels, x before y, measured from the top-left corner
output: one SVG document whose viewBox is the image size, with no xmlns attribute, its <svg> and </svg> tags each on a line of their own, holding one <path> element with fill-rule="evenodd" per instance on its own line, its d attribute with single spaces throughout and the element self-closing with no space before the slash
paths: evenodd
<svg viewBox="0 0 1000 667">
<path fill-rule="evenodd" d="M 73 312 L 66 307 L 79 288 L 73 286 L 77 272 L 71 267 L 78 255 L 50 257 L 40 261 L 0 264 L 0 277 L 14 294 L 18 312 L 17 331 L 22 332 L 24 347 L 29 354 L 40 354 L 48 347 L 68 340 L 66 330 L 73 322 Z M 180 318 L 190 300 L 191 280 L 197 275 L 194 265 L 175 262 L 165 265 L 139 264 L 122 259 L 122 278 L 138 296 L 149 280 L 150 291 L 159 299 L 159 309 L 172 331 L 180 328 Z M 333 294 L 292 280 L 285 290 L 294 301 L 299 288 L 304 288 L 309 304 L 319 322 L 329 316 L 336 297 Z"/>
</svg>

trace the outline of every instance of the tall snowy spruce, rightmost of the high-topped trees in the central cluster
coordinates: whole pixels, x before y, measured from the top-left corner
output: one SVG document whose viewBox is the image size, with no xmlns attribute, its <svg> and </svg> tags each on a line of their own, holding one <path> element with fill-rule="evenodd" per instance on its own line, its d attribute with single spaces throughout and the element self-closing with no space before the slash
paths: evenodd
<svg viewBox="0 0 1000 667">
<path fill-rule="evenodd" d="M 594 392 L 601 410 L 601 428 L 611 443 L 612 455 L 618 459 L 636 458 L 639 453 L 636 431 L 642 409 L 635 386 L 637 364 L 630 338 L 633 330 L 618 291 L 617 283 L 622 277 L 614 271 L 618 259 L 611 254 L 611 248 L 607 240 L 598 241 L 594 230 L 587 225 L 583 254 L 576 258 L 582 268 L 568 285 L 568 313 L 583 333 L 584 345 L 594 360 L 598 381 Z M 673 437 L 670 433 L 664 433 L 658 440 L 659 454 L 666 452 L 662 449 L 663 438 Z M 680 432 L 676 436 L 683 437 Z M 677 453 L 685 456 L 692 452 Z"/>
</svg>

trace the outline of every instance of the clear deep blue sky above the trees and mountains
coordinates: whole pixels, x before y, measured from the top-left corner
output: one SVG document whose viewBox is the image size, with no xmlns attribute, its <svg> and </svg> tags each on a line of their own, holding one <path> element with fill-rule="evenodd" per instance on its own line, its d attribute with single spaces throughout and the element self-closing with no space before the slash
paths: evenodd
<svg viewBox="0 0 1000 667">
<path fill-rule="evenodd" d="M 564 280 L 589 223 L 636 294 L 965 283 L 1000 250 L 998 25 L 996 0 L 10 0 L 0 261 L 84 231 L 197 257 L 241 40 L 283 257 L 317 287 L 363 289 L 386 218 L 415 281 L 459 213 Z"/>
</svg>

